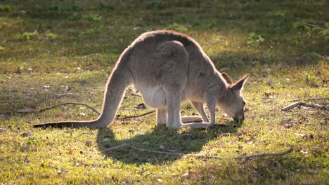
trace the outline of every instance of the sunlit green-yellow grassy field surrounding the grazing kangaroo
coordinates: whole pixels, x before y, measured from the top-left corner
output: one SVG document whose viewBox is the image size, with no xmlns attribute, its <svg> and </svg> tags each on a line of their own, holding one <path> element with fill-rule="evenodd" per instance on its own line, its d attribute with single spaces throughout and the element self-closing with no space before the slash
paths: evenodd
<svg viewBox="0 0 329 185">
<path fill-rule="evenodd" d="M 0 184 L 329 184 L 328 109 L 281 111 L 296 99 L 328 104 L 328 8 L 325 0 L 0 1 Z M 154 114 L 101 130 L 32 128 L 96 118 L 83 106 L 38 110 L 64 102 L 101 110 L 122 50 L 155 29 L 193 37 L 234 79 L 250 73 L 243 124 L 217 109 L 220 125 L 207 130 L 156 127 Z M 150 111 L 142 102 L 128 89 L 118 114 Z M 188 103 L 181 111 L 196 114 Z M 105 151 L 121 144 L 225 159 Z"/>
</svg>

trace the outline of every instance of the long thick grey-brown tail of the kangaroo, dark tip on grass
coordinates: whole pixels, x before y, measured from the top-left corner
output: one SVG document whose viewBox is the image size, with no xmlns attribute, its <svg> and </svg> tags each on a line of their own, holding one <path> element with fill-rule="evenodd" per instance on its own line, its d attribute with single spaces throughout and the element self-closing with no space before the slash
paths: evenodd
<svg viewBox="0 0 329 185">
<path fill-rule="evenodd" d="M 120 60 L 124 56 L 120 57 Z M 121 64 L 120 64 L 121 63 Z M 126 63 L 126 62 L 123 62 Z M 119 108 L 124 91 L 127 86 L 133 83 L 134 78 L 127 66 L 122 65 L 122 62 L 117 62 L 117 66 L 113 69 L 105 89 L 103 111 L 101 116 L 92 121 L 60 121 L 53 123 L 44 123 L 33 125 L 34 128 L 39 127 L 73 127 L 73 128 L 107 128 L 115 119 L 115 114 Z"/>
</svg>

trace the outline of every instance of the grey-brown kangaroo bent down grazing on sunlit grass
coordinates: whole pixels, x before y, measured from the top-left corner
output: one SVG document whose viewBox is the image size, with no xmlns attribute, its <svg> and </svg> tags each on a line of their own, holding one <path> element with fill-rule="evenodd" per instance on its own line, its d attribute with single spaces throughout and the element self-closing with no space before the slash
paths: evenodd
<svg viewBox="0 0 329 185">
<path fill-rule="evenodd" d="M 146 106 L 156 109 L 157 125 L 169 129 L 209 128 L 215 123 L 216 105 L 235 121 L 243 121 L 245 101 L 241 90 L 248 76 L 233 83 L 228 74 L 217 71 L 199 44 L 185 34 L 146 32 L 117 60 L 106 85 L 103 110 L 96 120 L 44 123 L 34 128 L 107 128 L 115 119 L 129 85 L 141 93 Z M 182 123 L 180 105 L 187 100 L 202 117 L 202 123 Z"/>
</svg>

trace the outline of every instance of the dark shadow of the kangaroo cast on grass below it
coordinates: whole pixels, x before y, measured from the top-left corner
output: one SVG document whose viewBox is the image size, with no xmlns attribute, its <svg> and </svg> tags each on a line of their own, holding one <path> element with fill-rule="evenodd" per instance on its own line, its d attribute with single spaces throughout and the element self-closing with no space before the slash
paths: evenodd
<svg viewBox="0 0 329 185">
<path fill-rule="evenodd" d="M 221 133 L 235 133 L 240 127 L 227 125 L 215 125 L 212 128 L 202 130 L 168 130 L 165 127 L 157 126 L 150 132 L 136 135 L 129 139 L 116 139 L 115 133 L 111 129 L 98 130 L 97 144 L 98 149 L 103 155 L 123 163 L 135 163 L 141 165 L 143 163 L 162 164 L 172 162 L 181 158 L 179 155 L 169 155 L 166 153 L 154 153 L 151 151 L 140 151 L 129 146 L 120 146 L 122 144 L 133 144 L 138 149 L 146 149 L 153 151 L 167 151 L 175 153 L 193 153 L 202 150 L 208 142 L 217 139 Z M 134 132 L 131 130 L 131 132 Z M 135 131 L 137 132 L 137 131 Z M 106 149 L 110 149 L 105 151 Z"/>
</svg>

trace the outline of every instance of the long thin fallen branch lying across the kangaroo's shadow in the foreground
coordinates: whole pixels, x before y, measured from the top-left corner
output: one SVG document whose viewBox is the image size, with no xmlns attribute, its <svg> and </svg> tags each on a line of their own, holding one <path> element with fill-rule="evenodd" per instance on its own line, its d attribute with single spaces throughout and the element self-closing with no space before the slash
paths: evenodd
<svg viewBox="0 0 329 185">
<path fill-rule="evenodd" d="M 193 156 L 193 157 L 198 157 L 198 158 L 217 158 L 217 159 L 250 159 L 250 158 L 257 158 L 257 157 L 266 157 L 266 156 L 283 156 L 287 153 L 290 153 L 293 151 L 292 148 L 283 151 L 283 152 L 279 152 L 279 153 L 259 153 L 259 154 L 253 154 L 253 155 L 249 155 L 249 156 L 237 156 L 237 157 L 219 157 L 219 156 L 202 156 L 202 155 L 198 155 L 198 154 L 189 154 L 189 153 L 179 153 L 179 152 L 168 152 L 168 151 L 155 151 L 155 150 L 148 150 L 148 149 L 141 149 L 138 148 L 137 146 L 135 146 L 134 144 L 121 144 L 119 146 L 114 146 L 108 149 L 103 150 L 103 152 L 107 152 L 107 151 L 112 151 L 114 149 L 119 149 L 122 148 L 124 146 L 129 146 L 131 149 L 135 149 L 138 151 L 146 151 L 146 152 L 150 152 L 150 153 L 161 153 L 161 154 L 167 154 L 167 155 L 175 155 L 175 156 Z"/>
</svg>

